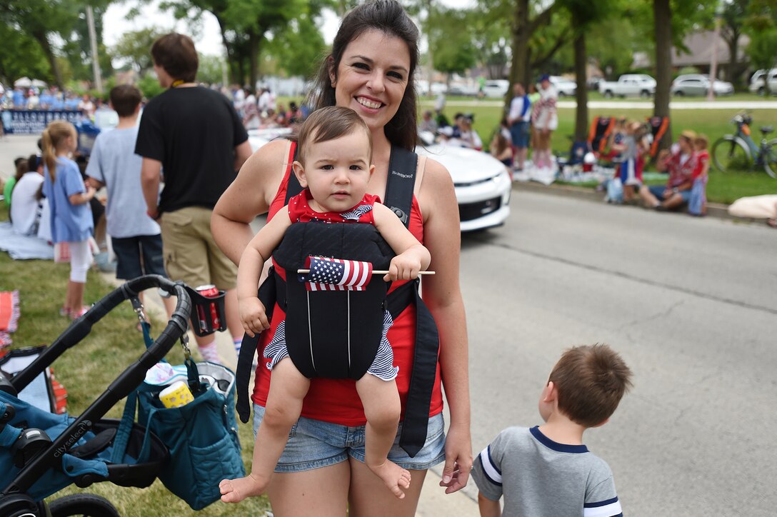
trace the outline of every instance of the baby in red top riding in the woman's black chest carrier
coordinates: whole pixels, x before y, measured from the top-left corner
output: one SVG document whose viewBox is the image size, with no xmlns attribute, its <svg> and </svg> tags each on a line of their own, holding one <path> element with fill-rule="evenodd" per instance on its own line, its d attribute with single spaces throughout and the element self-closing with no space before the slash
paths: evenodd
<svg viewBox="0 0 777 517">
<path fill-rule="evenodd" d="M 263 264 L 295 222 L 315 220 L 318 222 L 311 224 L 367 222 L 375 225 L 380 236 L 396 253 L 383 281 L 417 278 L 419 271 L 425 270 L 431 260 L 429 251 L 402 225 L 399 218 L 381 204 L 377 196 L 366 194 L 375 166 L 371 165 L 370 131 L 356 112 L 343 107 L 316 110 L 302 124 L 298 149 L 299 161 L 295 161 L 292 167 L 305 190 L 291 197 L 287 206 L 270 219 L 254 236 L 240 259 L 239 310 L 243 327 L 250 336 L 270 328 L 267 309 L 256 297 L 256 286 Z M 332 281 L 331 270 L 340 265 L 333 264 L 333 260 L 323 260 L 326 262 L 323 271 L 311 273 L 308 281 Z M 287 271 L 287 281 L 296 281 L 296 274 L 297 271 Z M 316 275 L 318 278 L 315 278 Z M 355 276 L 346 273 L 333 282 L 348 284 L 358 290 L 370 281 L 368 276 L 369 271 L 358 270 Z M 324 285 L 321 288 L 326 289 Z M 290 360 L 284 323 L 278 324 L 273 340 L 264 351 L 265 357 L 270 358 L 267 367 L 272 369 L 273 375 L 264 418 L 256 434 L 252 471 L 249 476 L 240 479 L 222 480 L 222 501 L 239 502 L 265 491 L 284 451 L 289 431 L 300 416 L 310 379 Z M 402 488 L 409 488 L 410 473 L 387 458 L 400 414 L 395 383 L 398 369 L 393 366 L 392 348 L 385 338 L 391 323 L 391 316 L 385 313 L 377 355 L 367 372 L 357 379 L 356 389 L 367 418 L 364 463 L 397 498 L 403 498 Z"/>
</svg>

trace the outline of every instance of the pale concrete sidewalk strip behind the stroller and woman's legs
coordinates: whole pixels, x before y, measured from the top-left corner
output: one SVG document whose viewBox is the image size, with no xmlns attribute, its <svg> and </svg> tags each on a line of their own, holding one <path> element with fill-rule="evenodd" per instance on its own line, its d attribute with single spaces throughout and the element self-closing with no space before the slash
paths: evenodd
<svg viewBox="0 0 777 517">
<path fill-rule="evenodd" d="M 113 273 L 101 272 L 100 275 L 110 285 L 118 286 L 124 283 L 117 280 Z M 162 298 L 156 290 L 149 289 L 144 294 L 146 312 L 153 314 L 159 320 L 166 320 L 165 307 L 162 305 Z M 191 330 L 189 331 L 189 339 L 190 343 L 193 344 L 194 334 Z M 234 371 L 237 365 L 237 356 L 227 332 L 216 333 L 216 348 L 218 348 L 221 361 Z M 441 473 L 442 465 L 430 469 L 427 477 L 423 480 L 423 490 L 418 502 L 416 517 L 449 517 L 451 515 L 455 517 L 472 515 L 475 517 L 479 515 L 474 482 L 470 480 L 469 485 L 464 490 L 455 494 L 445 494 L 445 489 L 440 486 Z"/>
</svg>

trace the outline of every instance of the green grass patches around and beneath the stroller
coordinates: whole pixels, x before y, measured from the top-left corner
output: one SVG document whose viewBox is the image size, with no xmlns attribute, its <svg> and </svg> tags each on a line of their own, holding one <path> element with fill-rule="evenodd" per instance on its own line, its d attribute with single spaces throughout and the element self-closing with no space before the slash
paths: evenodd
<svg viewBox="0 0 777 517">
<path fill-rule="evenodd" d="M 8 220 L 8 210 L 3 205 L 0 220 Z M 54 264 L 51 260 L 12 260 L 7 253 L 0 253 L 0 291 L 19 290 L 19 328 L 11 334 L 12 348 L 37 344 L 49 344 L 68 326 L 68 320 L 58 315 L 68 281 L 69 264 Z M 113 290 L 96 271 L 89 271 L 84 300 L 96 302 Z M 145 350 L 143 337 L 135 324 L 138 322 L 129 302 L 113 309 L 92 328 L 77 346 L 65 351 L 54 362 L 54 374 L 68 389 L 68 412 L 80 414 L 120 372 L 131 365 Z M 164 321 L 152 316 L 153 330 L 162 329 Z M 168 355 L 171 362 L 183 362 L 179 347 Z M 124 403 L 118 403 L 106 417 L 120 417 Z M 253 431 L 250 424 L 238 424 L 242 457 L 246 471 L 253 455 Z M 85 490 L 75 485 L 51 496 L 78 492 L 99 494 L 115 505 L 120 515 L 194 515 L 186 503 L 171 494 L 156 480 L 145 489 L 124 488 L 110 483 L 95 484 Z M 266 498 L 253 498 L 240 505 L 226 505 L 221 501 L 197 512 L 197 515 L 263 515 L 269 508 Z"/>
</svg>

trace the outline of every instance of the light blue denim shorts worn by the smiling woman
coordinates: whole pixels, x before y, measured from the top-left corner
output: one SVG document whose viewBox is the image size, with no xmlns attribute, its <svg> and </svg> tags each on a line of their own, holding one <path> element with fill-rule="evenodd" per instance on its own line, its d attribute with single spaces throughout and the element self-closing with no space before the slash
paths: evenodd
<svg viewBox="0 0 777 517">
<path fill-rule="evenodd" d="M 259 429 L 264 407 L 253 404 L 253 434 Z M 445 424 L 442 413 L 429 418 L 427 441 L 416 457 L 411 458 L 399 447 L 402 422 L 399 422 L 389 459 L 403 469 L 427 470 L 445 460 Z M 299 417 L 291 427 L 289 439 L 280 455 L 275 472 L 290 473 L 320 469 L 346 461 L 348 457 L 364 463 L 364 425 L 348 427 Z"/>
</svg>

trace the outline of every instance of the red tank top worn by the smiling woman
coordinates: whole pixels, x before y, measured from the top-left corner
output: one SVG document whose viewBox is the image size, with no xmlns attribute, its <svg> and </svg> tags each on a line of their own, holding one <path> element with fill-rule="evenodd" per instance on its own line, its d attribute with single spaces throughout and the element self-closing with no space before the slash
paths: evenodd
<svg viewBox="0 0 777 517">
<path fill-rule="evenodd" d="M 294 152 L 294 144 L 291 153 Z M 288 163 L 291 164 L 293 154 L 290 153 Z M 284 180 L 281 181 L 277 194 L 270 204 L 268 220 L 273 218 L 286 201 L 286 188 L 288 184 L 291 166 L 287 167 Z M 413 205 L 410 209 L 409 230 L 413 236 L 423 243 L 423 218 L 421 216 L 418 200 L 413 196 Z M 404 282 L 393 282 L 391 291 Z M 256 383 L 251 400 L 260 406 L 267 405 L 267 392 L 270 389 L 270 370 L 267 369 L 268 359 L 263 358 L 264 347 L 270 342 L 278 323 L 285 319 L 286 315 L 279 306 L 273 309 L 273 320 L 270 330 L 260 336 L 258 355 L 262 359 L 256 369 Z M 389 329 L 389 343 L 394 351 L 394 365 L 399 366 L 399 375 L 396 378 L 396 386 L 399 389 L 399 398 L 402 401 L 402 417 L 405 413 L 407 391 L 410 384 L 410 374 L 413 370 L 413 354 L 415 352 L 416 337 L 416 310 L 408 306 L 395 320 Z M 437 372 L 434 379 L 434 389 L 429 408 L 429 415 L 441 413 L 442 393 L 440 383 L 440 364 L 437 363 Z M 357 426 L 364 425 L 367 419 L 364 417 L 364 408 L 356 391 L 356 383 L 350 379 L 312 379 L 308 395 L 302 403 L 302 416 L 333 424 Z"/>
</svg>

